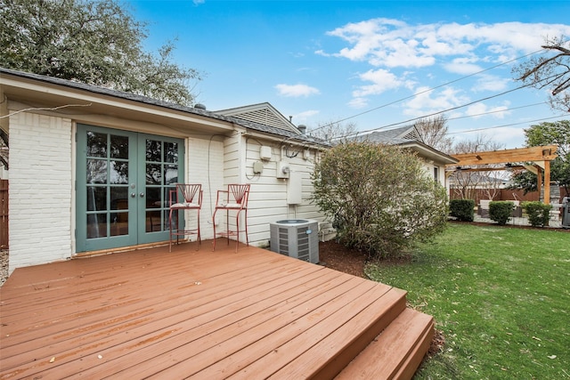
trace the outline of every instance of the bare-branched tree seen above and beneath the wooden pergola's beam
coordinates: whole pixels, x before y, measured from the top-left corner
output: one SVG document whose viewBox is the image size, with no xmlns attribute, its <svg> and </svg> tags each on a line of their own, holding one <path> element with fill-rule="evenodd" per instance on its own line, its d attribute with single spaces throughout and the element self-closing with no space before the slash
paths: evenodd
<svg viewBox="0 0 570 380">
<path fill-rule="evenodd" d="M 475 153 L 481 151 L 501 150 L 504 145 L 493 141 L 491 137 L 485 134 L 478 134 L 474 140 L 464 140 L 457 142 L 452 147 L 452 153 Z M 480 168 L 476 165 L 461 167 L 461 169 Z M 489 188 L 485 196 L 494 196 L 497 190 L 497 176 L 503 177 L 504 174 L 496 174 L 494 170 L 466 171 L 460 170 L 452 174 L 452 191 L 459 194 L 462 199 L 476 199 L 476 190 L 479 188 Z M 492 199 L 492 198 L 491 198 Z"/>
</svg>

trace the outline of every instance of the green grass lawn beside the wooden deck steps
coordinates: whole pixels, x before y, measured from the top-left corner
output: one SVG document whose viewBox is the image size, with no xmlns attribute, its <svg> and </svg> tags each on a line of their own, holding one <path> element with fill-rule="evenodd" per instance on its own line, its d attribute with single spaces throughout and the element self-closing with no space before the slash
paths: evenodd
<svg viewBox="0 0 570 380">
<path fill-rule="evenodd" d="M 415 379 L 570 378 L 570 233 L 452 223 L 411 262 L 366 273 L 443 332 Z"/>
</svg>

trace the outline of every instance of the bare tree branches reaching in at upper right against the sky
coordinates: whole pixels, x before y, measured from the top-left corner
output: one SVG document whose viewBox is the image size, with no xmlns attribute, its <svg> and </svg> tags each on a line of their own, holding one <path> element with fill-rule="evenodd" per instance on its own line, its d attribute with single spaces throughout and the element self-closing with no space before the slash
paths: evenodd
<svg viewBox="0 0 570 380">
<path fill-rule="evenodd" d="M 564 36 L 547 38 L 549 55 L 533 57 L 513 69 L 515 78 L 535 88 L 550 88 L 552 109 L 570 111 L 570 42 Z"/>
</svg>

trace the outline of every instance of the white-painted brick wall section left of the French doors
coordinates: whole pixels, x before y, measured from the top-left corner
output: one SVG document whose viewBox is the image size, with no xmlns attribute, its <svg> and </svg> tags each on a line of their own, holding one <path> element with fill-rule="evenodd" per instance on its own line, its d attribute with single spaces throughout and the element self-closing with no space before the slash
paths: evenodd
<svg viewBox="0 0 570 380">
<path fill-rule="evenodd" d="M 71 121 L 10 117 L 10 271 L 71 256 Z"/>
</svg>

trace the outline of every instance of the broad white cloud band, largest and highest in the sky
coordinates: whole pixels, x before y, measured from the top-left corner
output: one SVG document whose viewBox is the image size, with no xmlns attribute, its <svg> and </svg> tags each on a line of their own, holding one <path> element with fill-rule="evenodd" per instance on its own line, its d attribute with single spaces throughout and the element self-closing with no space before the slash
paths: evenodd
<svg viewBox="0 0 570 380">
<path fill-rule="evenodd" d="M 493 54 L 501 62 L 540 50 L 546 36 L 570 35 L 570 25 L 502 22 L 496 24 L 408 25 L 400 20 L 371 19 L 348 23 L 327 33 L 349 46 L 330 55 L 372 66 L 419 68 L 443 57 Z M 322 50 L 321 55 L 327 55 Z"/>
</svg>

